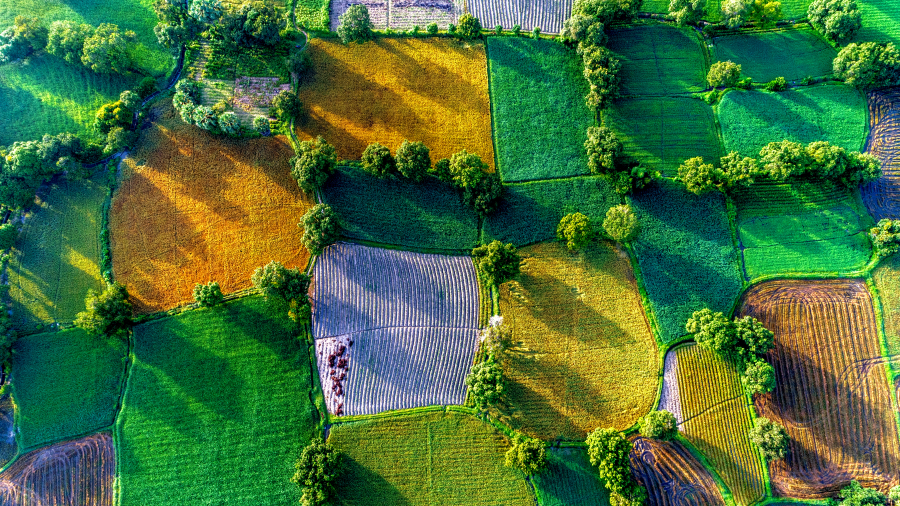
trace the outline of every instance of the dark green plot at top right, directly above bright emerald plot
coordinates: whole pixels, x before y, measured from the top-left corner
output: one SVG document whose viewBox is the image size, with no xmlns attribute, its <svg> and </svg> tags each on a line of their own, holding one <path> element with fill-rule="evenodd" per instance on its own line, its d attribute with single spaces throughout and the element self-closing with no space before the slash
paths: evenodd
<svg viewBox="0 0 900 506">
<path fill-rule="evenodd" d="M 837 56 L 837 51 L 808 27 L 716 37 L 713 53 L 718 61 L 740 64 L 741 76 L 756 83 L 767 83 L 776 77 L 788 81 L 829 77 L 831 62 Z"/>
</svg>

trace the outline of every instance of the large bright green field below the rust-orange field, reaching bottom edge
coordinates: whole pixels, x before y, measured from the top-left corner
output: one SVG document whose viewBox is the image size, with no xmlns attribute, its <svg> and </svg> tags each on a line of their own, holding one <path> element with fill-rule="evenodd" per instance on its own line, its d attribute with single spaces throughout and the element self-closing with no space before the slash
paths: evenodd
<svg viewBox="0 0 900 506">
<path fill-rule="evenodd" d="M 138 325 L 117 427 L 122 506 L 297 504 L 312 366 L 261 297 Z"/>
</svg>

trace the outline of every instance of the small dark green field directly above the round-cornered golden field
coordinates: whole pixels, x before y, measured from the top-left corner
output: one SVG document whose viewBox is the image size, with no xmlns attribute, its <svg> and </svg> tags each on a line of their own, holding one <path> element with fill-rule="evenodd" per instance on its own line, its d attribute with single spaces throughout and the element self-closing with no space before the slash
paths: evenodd
<svg viewBox="0 0 900 506">
<path fill-rule="evenodd" d="M 555 239 L 559 220 L 574 212 L 599 230 L 606 211 L 620 203 L 609 179 L 599 176 L 506 185 L 497 210 L 484 220 L 484 239 L 517 245 Z"/>
</svg>

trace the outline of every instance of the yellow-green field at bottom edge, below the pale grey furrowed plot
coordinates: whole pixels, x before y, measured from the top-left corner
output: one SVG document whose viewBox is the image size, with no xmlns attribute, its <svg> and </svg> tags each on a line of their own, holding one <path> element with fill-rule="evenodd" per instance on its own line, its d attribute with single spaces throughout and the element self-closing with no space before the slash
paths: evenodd
<svg viewBox="0 0 900 506">
<path fill-rule="evenodd" d="M 344 454 L 345 504 L 532 506 L 521 473 L 505 467 L 505 436 L 472 415 L 431 411 L 333 425 Z"/>
</svg>

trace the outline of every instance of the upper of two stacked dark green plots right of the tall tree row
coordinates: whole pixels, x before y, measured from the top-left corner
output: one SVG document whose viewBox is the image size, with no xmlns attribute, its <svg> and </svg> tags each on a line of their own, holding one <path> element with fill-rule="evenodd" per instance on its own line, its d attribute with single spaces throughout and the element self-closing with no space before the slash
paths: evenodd
<svg viewBox="0 0 900 506">
<path fill-rule="evenodd" d="M 622 95 L 677 95 L 707 88 L 700 37 L 689 28 L 642 25 L 609 31 L 610 51 L 622 61 Z"/>
</svg>

